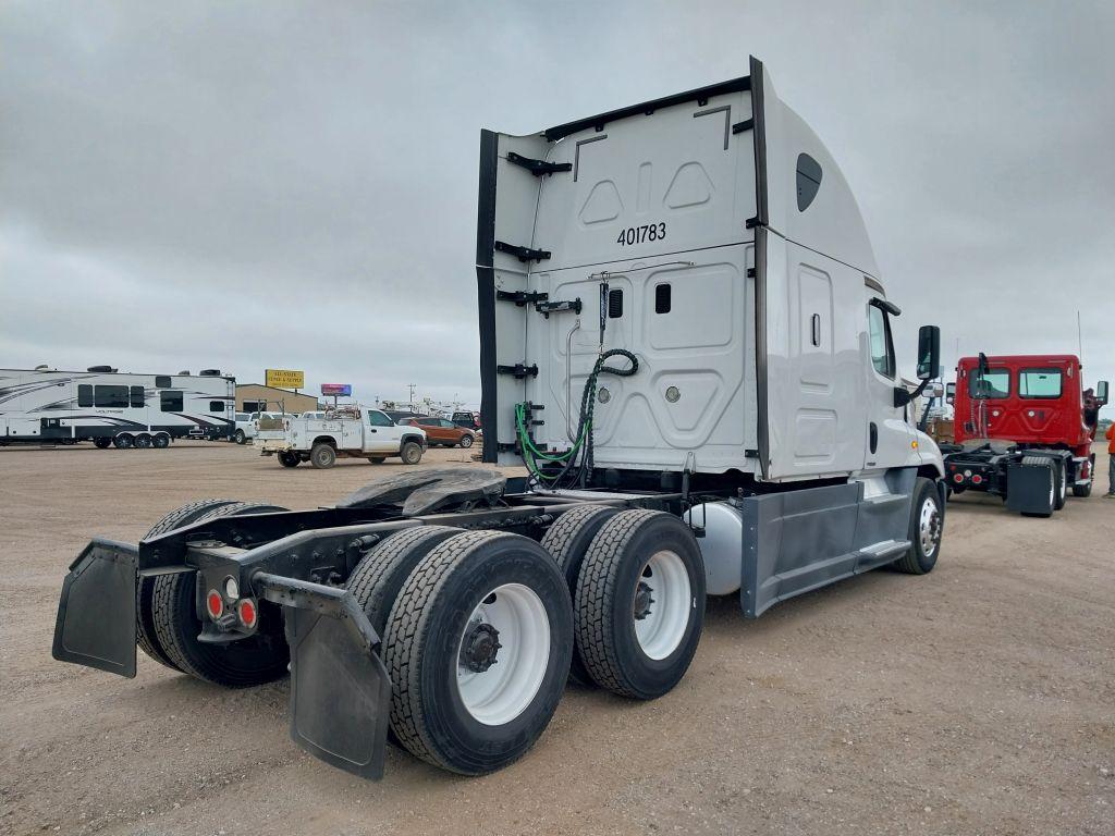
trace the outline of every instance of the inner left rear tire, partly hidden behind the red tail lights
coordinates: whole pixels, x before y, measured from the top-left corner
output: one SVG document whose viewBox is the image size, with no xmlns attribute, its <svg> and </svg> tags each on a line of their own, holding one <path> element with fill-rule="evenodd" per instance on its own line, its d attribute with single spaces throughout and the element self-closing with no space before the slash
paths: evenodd
<svg viewBox="0 0 1115 836">
<path fill-rule="evenodd" d="M 237 514 L 287 511 L 277 505 L 231 503 L 192 519 L 201 523 Z M 183 673 L 219 686 L 244 688 L 279 679 L 287 673 L 290 650 L 283 635 L 281 607 L 260 602 L 260 629 L 248 639 L 227 644 L 197 640 L 202 624 L 197 618 L 197 573 L 159 575 L 152 590 L 152 621 L 155 636 L 167 658 Z"/>
</svg>

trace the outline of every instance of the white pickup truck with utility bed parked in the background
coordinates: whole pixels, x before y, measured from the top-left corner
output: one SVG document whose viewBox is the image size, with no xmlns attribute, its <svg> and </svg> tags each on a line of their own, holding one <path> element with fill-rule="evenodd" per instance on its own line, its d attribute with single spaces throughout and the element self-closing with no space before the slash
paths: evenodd
<svg viewBox="0 0 1115 836">
<path fill-rule="evenodd" d="M 262 455 L 279 457 L 283 467 L 309 461 L 332 467 L 339 456 L 366 458 L 374 465 L 398 456 L 405 465 L 417 465 L 426 450 L 426 434 L 418 427 L 398 426 L 378 409 L 346 406 L 314 415 L 283 418 L 281 438 L 256 438 Z"/>
</svg>

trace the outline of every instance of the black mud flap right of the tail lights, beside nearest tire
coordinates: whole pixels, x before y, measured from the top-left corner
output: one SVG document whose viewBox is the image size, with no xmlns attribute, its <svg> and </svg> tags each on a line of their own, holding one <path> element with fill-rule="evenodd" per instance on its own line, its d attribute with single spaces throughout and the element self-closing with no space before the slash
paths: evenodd
<svg viewBox="0 0 1115 836">
<path fill-rule="evenodd" d="M 382 778 L 391 708 L 382 661 L 355 638 L 347 618 L 290 605 L 285 615 L 291 739 L 347 772 Z"/>
</svg>

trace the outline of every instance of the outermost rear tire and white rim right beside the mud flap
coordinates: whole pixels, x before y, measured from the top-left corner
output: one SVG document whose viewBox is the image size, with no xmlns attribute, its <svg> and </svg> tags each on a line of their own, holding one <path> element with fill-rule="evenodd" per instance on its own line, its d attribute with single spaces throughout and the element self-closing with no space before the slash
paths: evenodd
<svg viewBox="0 0 1115 836">
<path fill-rule="evenodd" d="M 534 602 L 534 614 L 505 622 L 497 636 L 503 653 L 485 671 L 468 673 L 463 642 L 472 626 L 484 625 L 474 618 L 481 603 L 498 609 L 516 595 Z M 507 623 L 521 629 L 513 631 Z M 462 775 L 502 769 L 521 758 L 550 723 L 569 677 L 572 633 L 565 581 L 537 543 L 505 532 L 449 537 L 411 572 L 387 622 L 382 660 L 395 687 L 391 729 L 413 755 L 443 769 Z M 532 645 L 536 652 L 526 652 Z M 511 692 L 516 696 L 504 701 L 507 692 L 497 689 L 487 704 L 502 715 L 477 719 L 474 711 L 486 709 L 466 703 L 463 689 L 469 678 L 494 673 L 515 682 L 517 672 L 536 682 L 533 690 L 515 687 Z"/>
</svg>

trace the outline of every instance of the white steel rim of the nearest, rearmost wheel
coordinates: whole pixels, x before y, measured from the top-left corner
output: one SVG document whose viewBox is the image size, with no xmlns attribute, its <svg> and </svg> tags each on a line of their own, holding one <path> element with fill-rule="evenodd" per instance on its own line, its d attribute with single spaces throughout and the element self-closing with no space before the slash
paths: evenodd
<svg viewBox="0 0 1115 836">
<path fill-rule="evenodd" d="M 473 610 L 457 648 L 457 692 L 485 726 L 518 717 L 539 692 L 550 661 L 550 616 L 518 583 L 492 590 Z"/>
</svg>

